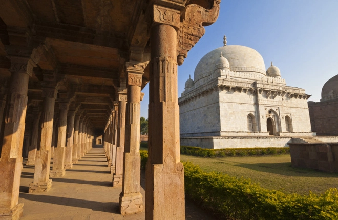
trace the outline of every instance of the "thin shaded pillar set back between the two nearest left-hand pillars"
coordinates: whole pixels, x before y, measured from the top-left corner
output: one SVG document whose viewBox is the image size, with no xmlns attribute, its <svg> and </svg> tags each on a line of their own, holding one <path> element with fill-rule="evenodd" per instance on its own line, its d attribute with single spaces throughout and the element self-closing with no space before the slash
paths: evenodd
<svg viewBox="0 0 338 220">
<path fill-rule="evenodd" d="M 36 149 L 37 149 L 37 140 L 38 140 L 38 134 L 39 134 L 39 121 L 40 121 L 41 112 L 39 111 L 39 108 L 33 109 L 33 125 L 32 125 L 32 139 L 31 139 L 31 145 L 29 147 L 28 151 L 28 159 L 26 162 L 26 165 L 34 166 L 35 165 L 35 155 L 36 155 Z"/>
</svg>

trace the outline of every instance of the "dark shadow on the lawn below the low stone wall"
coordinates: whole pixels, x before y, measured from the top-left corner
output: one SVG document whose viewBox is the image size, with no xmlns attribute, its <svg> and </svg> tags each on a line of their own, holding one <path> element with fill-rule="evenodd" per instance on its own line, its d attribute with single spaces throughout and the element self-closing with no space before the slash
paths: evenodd
<svg viewBox="0 0 338 220">
<path fill-rule="evenodd" d="M 299 177 L 338 177 L 338 173 L 325 173 L 322 171 L 292 167 L 291 162 L 285 163 L 257 163 L 257 164 L 237 164 L 237 167 L 242 167 L 259 172 L 273 173 L 284 176 L 299 176 Z"/>
</svg>

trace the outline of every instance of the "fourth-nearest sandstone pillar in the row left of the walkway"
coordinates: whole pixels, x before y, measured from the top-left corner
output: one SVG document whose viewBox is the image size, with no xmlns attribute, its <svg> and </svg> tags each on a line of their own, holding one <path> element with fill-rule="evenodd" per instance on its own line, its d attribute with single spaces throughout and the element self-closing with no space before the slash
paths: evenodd
<svg viewBox="0 0 338 220">
<path fill-rule="evenodd" d="M 73 158 L 74 120 L 75 120 L 75 111 L 74 110 L 68 111 L 65 169 L 71 169 L 73 167 L 72 158 Z"/>
</svg>

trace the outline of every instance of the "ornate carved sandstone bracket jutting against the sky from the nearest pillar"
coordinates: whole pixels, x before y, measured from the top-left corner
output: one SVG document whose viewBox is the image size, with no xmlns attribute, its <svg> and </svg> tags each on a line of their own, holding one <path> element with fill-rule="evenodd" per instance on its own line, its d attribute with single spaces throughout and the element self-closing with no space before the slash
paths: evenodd
<svg viewBox="0 0 338 220">
<path fill-rule="evenodd" d="M 221 0 L 214 0 L 211 9 L 205 9 L 197 4 L 186 6 L 183 13 L 183 22 L 177 34 L 177 63 L 182 65 L 188 55 L 188 51 L 195 46 L 199 39 L 204 35 L 203 26 L 208 26 L 216 22 Z"/>
</svg>

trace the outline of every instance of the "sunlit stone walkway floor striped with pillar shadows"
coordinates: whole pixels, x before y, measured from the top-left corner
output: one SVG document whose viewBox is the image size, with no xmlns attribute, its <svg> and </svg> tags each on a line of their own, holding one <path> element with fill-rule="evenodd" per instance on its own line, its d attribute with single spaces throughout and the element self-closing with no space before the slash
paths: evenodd
<svg viewBox="0 0 338 220">
<path fill-rule="evenodd" d="M 25 161 L 24 161 L 25 163 Z M 44 194 L 28 194 L 33 181 L 34 167 L 24 165 L 20 184 L 19 203 L 24 203 L 22 220 L 36 219 L 144 219 L 142 213 L 121 216 L 118 199 L 121 187 L 112 187 L 102 145 L 89 151 L 61 178 L 52 179 L 52 189 Z M 141 173 L 141 193 L 144 204 L 145 176 Z M 192 202 L 186 201 L 186 219 L 214 219 Z"/>
</svg>

